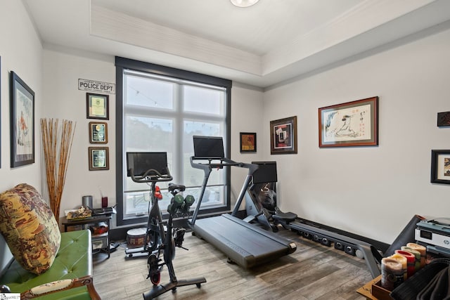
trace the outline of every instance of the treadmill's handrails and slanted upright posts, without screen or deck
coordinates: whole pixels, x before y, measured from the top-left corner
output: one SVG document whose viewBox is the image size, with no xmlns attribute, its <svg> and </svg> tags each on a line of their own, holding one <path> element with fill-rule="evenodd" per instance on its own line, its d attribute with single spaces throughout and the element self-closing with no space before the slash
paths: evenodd
<svg viewBox="0 0 450 300">
<path fill-rule="evenodd" d="M 195 160 L 207 160 L 208 162 L 195 162 Z M 219 160 L 219 162 L 213 162 L 213 160 Z M 248 185 L 251 182 L 252 174 L 259 168 L 257 164 L 248 164 L 245 162 L 235 162 L 231 159 L 228 159 L 226 157 L 221 158 L 208 158 L 208 157 L 195 157 L 191 156 L 191 166 L 195 169 L 203 169 L 205 172 L 205 177 L 203 178 L 203 184 L 202 184 L 202 190 L 200 191 L 200 196 L 198 197 L 197 205 L 195 206 L 192 219 L 188 223 L 190 223 L 191 226 L 195 225 L 195 220 L 197 220 L 198 212 L 200 211 L 200 205 L 203 200 L 203 195 L 205 194 L 206 185 L 208 182 L 208 179 L 210 178 L 210 174 L 212 169 L 217 168 L 223 168 L 223 167 L 239 167 L 239 168 L 245 168 L 248 169 L 248 175 L 245 178 L 245 181 L 243 183 L 243 187 L 240 190 L 238 199 L 236 200 L 236 204 L 234 205 L 233 212 L 231 215 L 236 216 L 238 209 L 240 207 L 240 204 L 242 203 L 242 200 L 245 196 L 245 190 L 247 190 Z"/>
</svg>

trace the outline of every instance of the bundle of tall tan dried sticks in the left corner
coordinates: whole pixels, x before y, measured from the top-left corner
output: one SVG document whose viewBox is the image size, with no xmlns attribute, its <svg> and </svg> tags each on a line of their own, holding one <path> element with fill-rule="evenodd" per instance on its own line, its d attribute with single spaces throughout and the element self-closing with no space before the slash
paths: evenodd
<svg viewBox="0 0 450 300">
<path fill-rule="evenodd" d="M 41 119 L 42 146 L 46 167 L 47 188 L 51 211 L 59 221 L 61 197 L 63 196 L 65 174 L 68 169 L 70 150 L 76 123 L 63 120 L 61 132 L 58 119 Z"/>
</svg>

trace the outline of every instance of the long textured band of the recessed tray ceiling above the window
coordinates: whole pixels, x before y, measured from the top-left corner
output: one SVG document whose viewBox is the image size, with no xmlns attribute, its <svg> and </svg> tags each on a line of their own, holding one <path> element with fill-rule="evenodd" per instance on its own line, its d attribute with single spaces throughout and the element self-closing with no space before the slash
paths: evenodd
<svg viewBox="0 0 450 300">
<path fill-rule="evenodd" d="M 259 75 L 261 57 L 101 6 L 91 5 L 90 34 L 154 51 Z"/>
</svg>

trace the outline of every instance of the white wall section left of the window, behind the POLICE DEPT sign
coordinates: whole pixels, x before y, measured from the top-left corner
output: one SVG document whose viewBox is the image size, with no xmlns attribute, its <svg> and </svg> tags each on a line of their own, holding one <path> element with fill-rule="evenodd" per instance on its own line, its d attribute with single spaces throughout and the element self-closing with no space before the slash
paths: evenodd
<svg viewBox="0 0 450 300">
<path fill-rule="evenodd" d="M 65 209 L 82 204 L 83 195 L 92 195 L 94 207 L 101 207 L 101 193 L 108 196 L 108 205 L 115 199 L 115 94 L 109 94 L 109 120 L 86 118 L 86 91 L 78 89 L 78 79 L 115 83 L 113 56 L 68 51 L 49 47 L 44 51 L 44 101 L 41 117 L 68 119 L 76 123 L 60 216 Z M 64 52 L 63 52 L 64 51 Z M 108 143 L 89 143 L 89 122 L 108 124 Z M 109 148 L 109 170 L 89 171 L 89 147 Z M 113 222 L 115 223 L 115 222 Z"/>
</svg>

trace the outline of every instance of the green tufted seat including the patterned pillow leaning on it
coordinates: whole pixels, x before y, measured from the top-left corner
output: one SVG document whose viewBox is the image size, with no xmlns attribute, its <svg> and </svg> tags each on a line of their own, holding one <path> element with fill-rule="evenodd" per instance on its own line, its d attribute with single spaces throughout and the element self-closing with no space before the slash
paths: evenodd
<svg viewBox="0 0 450 300">
<path fill-rule="evenodd" d="M 0 233 L 14 257 L 0 270 L 0 295 L 101 299 L 93 282 L 91 232 L 60 233 L 48 204 L 31 185 L 0 194 Z"/>
</svg>

